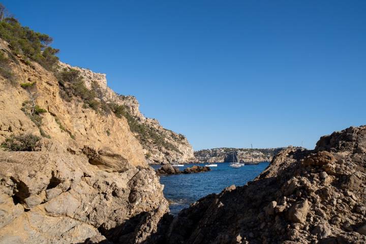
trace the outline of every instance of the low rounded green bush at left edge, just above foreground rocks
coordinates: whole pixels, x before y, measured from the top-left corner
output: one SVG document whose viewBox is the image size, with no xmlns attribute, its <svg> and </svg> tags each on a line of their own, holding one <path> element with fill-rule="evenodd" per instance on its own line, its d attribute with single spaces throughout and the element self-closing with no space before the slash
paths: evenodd
<svg viewBox="0 0 366 244">
<path fill-rule="evenodd" d="M 1 144 L 8 151 L 33 151 L 36 143 L 40 140 L 32 134 L 11 135 Z"/>
</svg>

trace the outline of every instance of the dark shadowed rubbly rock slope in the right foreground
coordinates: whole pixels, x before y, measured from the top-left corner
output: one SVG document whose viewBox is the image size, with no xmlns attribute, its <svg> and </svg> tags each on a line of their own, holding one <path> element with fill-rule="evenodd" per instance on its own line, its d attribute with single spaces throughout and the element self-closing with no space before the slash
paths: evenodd
<svg viewBox="0 0 366 244">
<path fill-rule="evenodd" d="M 243 187 L 208 195 L 150 243 L 366 243 L 366 126 L 288 147 Z"/>
</svg>

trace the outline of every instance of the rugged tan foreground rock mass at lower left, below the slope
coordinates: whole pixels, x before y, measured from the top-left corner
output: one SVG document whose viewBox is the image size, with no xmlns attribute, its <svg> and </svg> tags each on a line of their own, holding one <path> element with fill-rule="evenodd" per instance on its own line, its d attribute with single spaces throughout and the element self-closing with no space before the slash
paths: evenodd
<svg viewBox="0 0 366 244">
<path fill-rule="evenodd" d="M 140 243 L 168 211 L 162 190 L 150 168 L 106 172 L 84 155 L 0 151 L 0 243 Z"/>
</svg>

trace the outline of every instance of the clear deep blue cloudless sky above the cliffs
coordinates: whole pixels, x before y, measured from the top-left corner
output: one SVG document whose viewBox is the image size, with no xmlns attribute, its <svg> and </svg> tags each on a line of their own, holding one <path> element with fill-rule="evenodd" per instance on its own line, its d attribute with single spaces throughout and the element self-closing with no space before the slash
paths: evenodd
<svg viewBox="0 0 366 244">
<path fill-rule="evenodd" d="M 194 149 L 366 124 L 366 1 L 1 2 Z"/>
</svg>

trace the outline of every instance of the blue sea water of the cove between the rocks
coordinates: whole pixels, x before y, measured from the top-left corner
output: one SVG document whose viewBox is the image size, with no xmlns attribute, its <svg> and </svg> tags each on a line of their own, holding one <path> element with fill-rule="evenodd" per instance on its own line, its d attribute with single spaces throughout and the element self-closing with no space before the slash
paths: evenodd
<svg viewBox="0 0 366 244">
<path fill-rule="evenodd" d="M 245 185 L 257 177 L 268 164 L 269 162 L 262 162 L 235 169 L 229 166 L 230 163 L 218 163 L 218 167 L 211 167 L 211 171 L 208 172 L 160 176 L 160 183 L 164 185 L 164 196 L 171 202 L 171 214 L 177 215 L 181 209 L 189 207 L 189 204 L 208 194 L 220 193 L 231 185 Z M 186 164 L 178 168 L 183 170 L 193 165 L 205 164 Z M 161 165 L 152 167 L 158 169 Z"/>
</svg>

